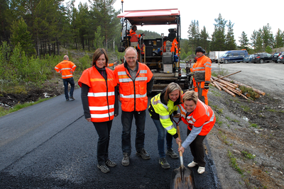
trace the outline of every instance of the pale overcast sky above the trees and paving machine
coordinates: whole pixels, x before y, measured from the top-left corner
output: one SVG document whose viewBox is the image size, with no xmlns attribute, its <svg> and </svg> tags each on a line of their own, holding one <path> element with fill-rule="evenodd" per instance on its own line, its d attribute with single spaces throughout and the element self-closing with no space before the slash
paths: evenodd
<svg viewBox="0 0 284 189">
<path fill-rule="evenodd" d="M 76 0 L 75 5 L 87 0 Z M 239 45 L 239 37 L 244 31 L 250 40 L 253 30 L 263 28 L 264 25 L 271 26 L 273 36 L 278 28 L 283 32 L 283 0 L 274 1 L 256 1 L 256 0 L 238 0 L 238 1 L 221 1 L 221 0 L 124 0 L 124 11 L 147 10 L 161 8 L 178 8 L 180 10 L 181 21 L 181 38 L 187 38 L 187 30 L 192 21 L 198 21 L 200 30 L 205 26 L 207 33 L 211 37 L 214 32 L 214 21 L 221 13 L 222 18 L 234 23 L 234 37 Z M 116 0 L 114 8 L 118 11 L 121 9 L 121 0 Z M 168 28 L 168 26 L 167 26 Z M 138 30 L 151 30 L 157 33 L 168 33 L 167 28 L 149 27 L 144 25 L 138 26 Z"/>
</svg>

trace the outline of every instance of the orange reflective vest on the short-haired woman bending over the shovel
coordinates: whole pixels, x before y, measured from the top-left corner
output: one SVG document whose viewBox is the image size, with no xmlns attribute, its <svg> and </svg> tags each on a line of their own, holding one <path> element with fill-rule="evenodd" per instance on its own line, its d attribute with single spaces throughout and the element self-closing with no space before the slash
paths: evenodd
<svg viewBox="0 0 284 189">
<path fill-rule="evenodd" d="M 201 130 L 198 135 L 201 136 L 205 136 L 210 132 L 216 122 L 216 118 L 209 105 L 206 105 L 202 103 L 202 101 L 198 100 L 195 110 L 193 110 L 192 113 L 187 116 L 187 111 L 185 110 L 183 103 L 178 106 L 180 108 L 182 122 L 187 125 L 189 130 L 192 130 L 192 126 L 199 127 Z"/>
</svg>

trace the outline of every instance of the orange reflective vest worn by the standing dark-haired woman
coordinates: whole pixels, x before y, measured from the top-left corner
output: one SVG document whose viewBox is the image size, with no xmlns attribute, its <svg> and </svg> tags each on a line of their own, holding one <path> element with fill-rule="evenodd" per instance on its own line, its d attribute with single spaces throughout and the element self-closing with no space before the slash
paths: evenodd
<svg viewBox="0 0 284 189">
<path fill-rule="evenodd" d="M 92 122 L 106 122 L 114 119 L 114 71 L 106 68 L 107 81 L 95 67 L 85 69 L 78 84 L 89 86 L 88 101 Z"/>
</svg>

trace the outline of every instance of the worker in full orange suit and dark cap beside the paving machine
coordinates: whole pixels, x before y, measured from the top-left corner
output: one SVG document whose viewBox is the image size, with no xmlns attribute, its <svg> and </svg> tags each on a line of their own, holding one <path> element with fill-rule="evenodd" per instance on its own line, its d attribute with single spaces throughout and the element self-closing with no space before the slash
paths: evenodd
<svg viewBox="0 0 284 189">
<path fill-rule="evenodd" d="M 202 47 L 197 47 L 195 55 L 197 61 L 190 69 L 194 76 L 192 78 L 195 91 L 198 93 L 200 101 L 208 105 L 207 93 L 209 90 L 210 78 L 211 78 L 211 60 L 209 57 L 204 56 L 205 50 Z"/>
</svg>

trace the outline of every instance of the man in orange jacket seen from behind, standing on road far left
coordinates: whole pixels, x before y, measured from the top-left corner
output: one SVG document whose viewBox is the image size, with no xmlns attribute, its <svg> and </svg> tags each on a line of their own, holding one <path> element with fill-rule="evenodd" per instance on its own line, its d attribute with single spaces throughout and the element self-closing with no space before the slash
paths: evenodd
<svg viewBox="0 0 284 189">
<path fill-rule="evenodd" d="M 69 98 L 74 101 L 75 98 L 73 96 L 73 92 L 75 88 L 75 83 L 73 79 L 73 72 L 76 69 L 76 65 L 73 62 L 69 61 L 69 57 L 65 55 L 63 57 L 63 61 L 57 64 L 54 69 L 58 73 L 62 74 L 66 101 L 69 101 Z M 68 84 L 71 85 L 70 96 L 68 96 Z"/>
</svg>

